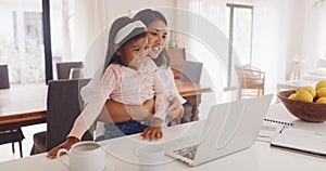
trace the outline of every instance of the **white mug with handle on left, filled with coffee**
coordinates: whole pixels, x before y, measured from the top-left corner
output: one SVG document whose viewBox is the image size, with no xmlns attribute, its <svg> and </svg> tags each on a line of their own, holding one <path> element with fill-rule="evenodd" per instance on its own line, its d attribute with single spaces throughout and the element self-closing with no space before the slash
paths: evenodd
<svg viewBox="0 0 326 171">
<path fill-rule="evenodd" d="M 92 141 L 78 142 L 74 144 L 70 152 L 65 148 L 59 149 L 57 157 L 65 152 L 68 155 L 70 163 L 65 165 L 70 171 L 103 171 L 104 170 L 104 152 L 101 146 Z"/>
</svg>

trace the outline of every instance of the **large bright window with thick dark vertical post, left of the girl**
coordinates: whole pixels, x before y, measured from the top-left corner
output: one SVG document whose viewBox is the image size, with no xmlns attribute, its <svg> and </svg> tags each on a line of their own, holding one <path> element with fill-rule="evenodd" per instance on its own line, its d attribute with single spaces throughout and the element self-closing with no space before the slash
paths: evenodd
<svg viewBox="0 0 326 171">
<path fill-rule="evenodd" d="M 55 65 L 74 55 L 74 0 L 47 1 L 51 2 L 52 64 Z M 11 83 L 43 82 L 46 79 L 43 2 L 0 0 L 0 22 L 5 26 L 0 27 L 0 64 L 8 65 Z"/>
</svg>

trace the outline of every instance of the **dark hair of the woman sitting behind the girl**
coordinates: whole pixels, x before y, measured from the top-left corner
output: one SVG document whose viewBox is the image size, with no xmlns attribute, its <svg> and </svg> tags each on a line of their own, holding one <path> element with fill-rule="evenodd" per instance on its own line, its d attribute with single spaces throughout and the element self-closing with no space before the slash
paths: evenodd
<svg viewBox="0 0 326 171">
<path fill-rule="evenodd" d="M 167 21 L 164 17 L 164 15 L 161 12 L 151 9 L 145 9 L 139 11 L 134 16 L 134 19 L 141 21 L 146 26 L 152 24 L 155 21 L 162 21 L 167 26 Z M 159 56 L 153 61 L 158 66 L 170 66 L 171 63 L 170 56 L 165 49 L 163 49 Z"/>
</svg>

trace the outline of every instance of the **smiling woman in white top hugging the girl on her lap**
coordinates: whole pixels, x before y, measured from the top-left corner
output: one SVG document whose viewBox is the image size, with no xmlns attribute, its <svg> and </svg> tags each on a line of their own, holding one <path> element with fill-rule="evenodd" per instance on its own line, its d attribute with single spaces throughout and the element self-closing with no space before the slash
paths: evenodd
<svg viewBox="0 0 326 171">
<path fill-rule="evenodd" d="M 171 91 L 173 95 L 168 97 L 170 107 L 167 109 L 167 115 L 174 115 L 174 118 L 170 118 L 173 122 L 179 122 L 179 119 L 183 117 L 184 104 L 186 101 L 179 95 L 175 81 L 174 75 L 170 67 L 170 56 L 166 53 L 165 48 L 165 39 L 167 37 L 167 22 L 164 15 L 158 11 L 153 11 L 151 9 L 146 9 L 138 12 L 135 19 L 141 21 L 148 29 L 148 43 L 149 43 L 149 54 L 148 56 L 151 57 L 154 63 L 160 67 L 160 75 L 161 78 L 165 81 L 164 86 L 167 90 Z M 106 58 L 106 62 L 109 60 Z M 108 65 L 108 64 L 105 64 Z M 88 90 L 87 90 L 88 89 Z M 91 94 L 92 90 L 91 87 L 86 87 L 82 90 L 82 94 Z M 87 98 L 87 95 L 84 95 L 84 98 Z M 104 122 L 113 122 L 113 123 L 121 123 L 128 121 L 127 119 L 130 118 L 128 113 L 125 108 L 133 108 L 133 114 L 138 114 L 137 117 L 134 116 L 134 120 L 139 120 L 143 118 L 150 117 L 152 113 L 151 105 L 153 104 L 152 101 L 147 102 L 143 106 L 125 106 L 124 104 L 118 104 L 113 101 L 108 101 L 106 108 L 104 108 L 104 113 L 98 118 L 100 121 Z M 106 111 L 105 111 L 106 109 Z M 136 111 L 136 113 L 135 113 Z M 108 115 L 108 113 L 110 115 Z M 110 118 L 111 117 L 111 118 Z M 110 123 L 109 123 L 110 124 Z M 106 123 L 108 128 L 108 123 Z M 114 126 L 110 126 L 111 129 L 114 129 Z M 130 128 L 131 129 L 131 128 Z M 108 130 L 108 129 L 106 129 Z M 122 132 L 124 133 L 124 132 Z M 97 126 L 97 141 L 105 140 L 103 136 L 105 134 L 104 123 L 100 122 Z M 106 137 L 108 139 L 108 137 Z"/>
</svg>

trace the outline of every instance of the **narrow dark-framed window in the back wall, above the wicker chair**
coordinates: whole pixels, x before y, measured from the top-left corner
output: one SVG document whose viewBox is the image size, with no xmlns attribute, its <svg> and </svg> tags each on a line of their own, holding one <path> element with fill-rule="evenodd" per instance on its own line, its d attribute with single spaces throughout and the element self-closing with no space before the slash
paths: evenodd
<svg viewBox="0 0 326 171">
<path fill-rule="evenodd" d="M 230 41 L 228 55 L 228 81 L 226 89 L 236 86 L 234 65 L 236 58 L 241 65 L 251 64 L 252 61 L 252 24 L 253 6 L 243 4 L 226 4 L 227 36 Z M 236 52 L 236 55 L 231 52 Z"/>
</svg>

